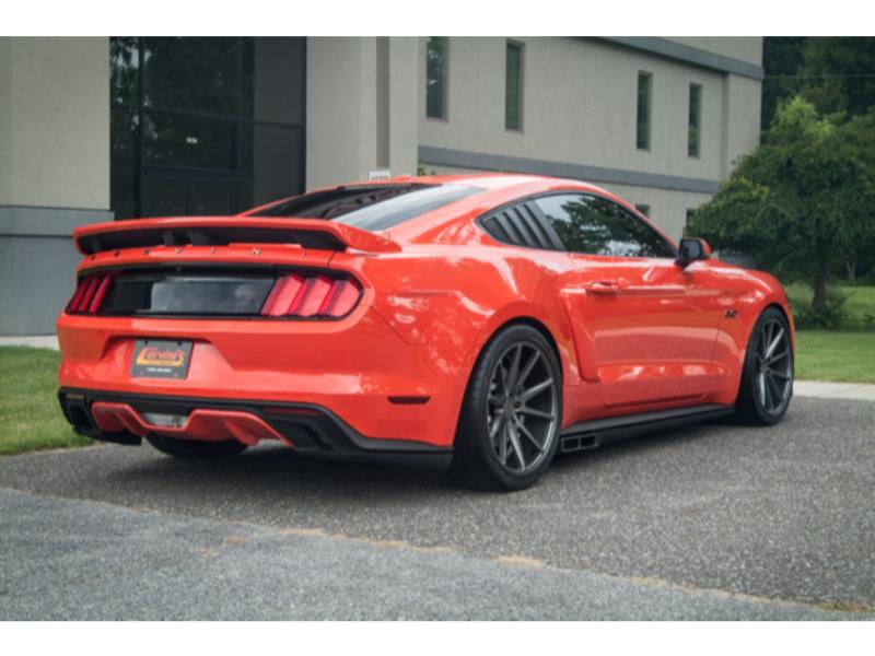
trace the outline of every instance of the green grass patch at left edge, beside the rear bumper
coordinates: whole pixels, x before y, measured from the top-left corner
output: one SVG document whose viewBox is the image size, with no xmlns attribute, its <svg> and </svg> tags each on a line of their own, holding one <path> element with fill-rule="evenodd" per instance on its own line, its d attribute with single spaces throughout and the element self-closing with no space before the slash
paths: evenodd
<svg viewBox="0 0 875 656">
<path fill-rule="evenodd" d="M 0 455 L 91 444 L 61 413 L 59 361 L 57 351 L 0 347 Z"/>
</svg>

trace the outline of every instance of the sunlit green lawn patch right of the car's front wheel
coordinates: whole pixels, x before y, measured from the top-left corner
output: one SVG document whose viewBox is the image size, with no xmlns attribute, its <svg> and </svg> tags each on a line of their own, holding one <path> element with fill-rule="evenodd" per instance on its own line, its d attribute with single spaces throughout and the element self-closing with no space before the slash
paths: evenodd
<svg viewBox="0 0 875 656">
<path fill-rule="evenodd" d="M 875 332 L 800 330 L 796 377 L 805 380 L 875 383 Z"/>
</svg>

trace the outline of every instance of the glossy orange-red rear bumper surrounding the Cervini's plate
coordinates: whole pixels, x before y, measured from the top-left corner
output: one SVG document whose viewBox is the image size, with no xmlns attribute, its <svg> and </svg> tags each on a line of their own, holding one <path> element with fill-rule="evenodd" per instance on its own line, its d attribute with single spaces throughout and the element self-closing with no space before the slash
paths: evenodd
<svg viewBox="0 0 875 656">
<path fill-rule="evenodd" d="M 373 309 L 337 321 L 144 317 L 58 319 L 61 388 L 131 398 L 203 399 L 221 407 L 324 409 L 357 435 L 451 447 L 465 363 L 411 344 Z M 138 339 L 192 343 L 184 379 L 131 373 Z M 458 355 L 456 355 L 457 358 Z"/>
</svg>

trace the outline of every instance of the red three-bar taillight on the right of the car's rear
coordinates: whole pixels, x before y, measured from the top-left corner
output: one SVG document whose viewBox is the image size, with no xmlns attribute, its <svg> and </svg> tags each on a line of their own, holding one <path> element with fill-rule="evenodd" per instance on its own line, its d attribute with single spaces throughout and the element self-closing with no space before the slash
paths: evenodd
<svg viewBox="0 0 875 656">
<path fill-rule="evenodd" d="M 266 317 L 340 318 L 362 297 L 357 282 L 322 274 L 281 276 L 261 307 Z"/>
</svg>

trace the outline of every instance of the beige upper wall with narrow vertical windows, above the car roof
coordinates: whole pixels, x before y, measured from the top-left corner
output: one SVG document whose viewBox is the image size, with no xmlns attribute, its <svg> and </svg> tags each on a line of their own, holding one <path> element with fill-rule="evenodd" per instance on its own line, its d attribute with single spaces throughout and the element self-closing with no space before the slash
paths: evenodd
<svg viewBox="0 0 875 656">
<path fill-rule="evenodd" d="M 724 75 L 598 40 L 516 37 L 525 44 L 523 132 L 504 129 L 504 38 L 450 38 L 447 120 L 420 114 L 420 143 L 718 180 L 725 168 Z M 424 79 L 424 42 L 420 47 Z M 638 72 L 653 75 L 649 151 L 635 148 Z M 756 87 L 757 82 L 750 81 Z M 702 86 L 701 156 L 687 155 L 689 85 Z M 424 96 L 424 84 L 420 84 Z M 421 101 L 424 102 L 424 101 Z M 739 101 L 736 105 L 746 102 Z M 758 105 L 757 105 L 758 113 Z M 739 126 L 740 130 L 740 126 Z M 733 139 L 731 152 L 758 134 Z"/>
</svg>

